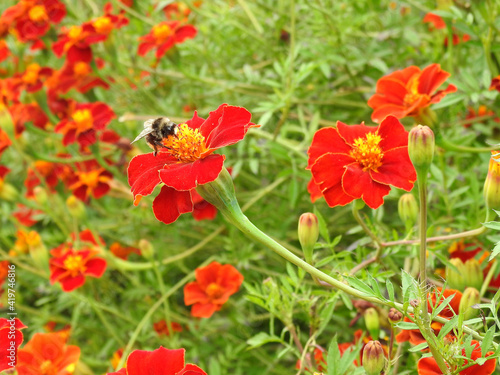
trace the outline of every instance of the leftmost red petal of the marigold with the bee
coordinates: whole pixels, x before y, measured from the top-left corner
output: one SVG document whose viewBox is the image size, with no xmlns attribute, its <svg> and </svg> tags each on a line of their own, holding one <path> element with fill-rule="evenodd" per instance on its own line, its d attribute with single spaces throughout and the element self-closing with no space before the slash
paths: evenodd
<svg viewBox="0 0 500 375">
<path fill-rule="evenodd" d="M 159 170 L 167 163 L 176 162 L 174 157 L 160 152 L 154 156 L 153 153 L 134 157 L 128 166 L 128 183 L 134 194 L 134 204 L 137 205 L 140 197 L 153 192 L 160 181 Z"/>
</svg>

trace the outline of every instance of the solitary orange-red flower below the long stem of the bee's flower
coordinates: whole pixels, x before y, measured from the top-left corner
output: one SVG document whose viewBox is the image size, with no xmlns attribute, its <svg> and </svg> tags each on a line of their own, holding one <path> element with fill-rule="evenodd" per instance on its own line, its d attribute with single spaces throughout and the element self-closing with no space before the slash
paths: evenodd
<svg viewBox="0 0 500 375">
<path fill-rule="evenodd" d="M 195 275 L 196 281 L 184 287 L 184 303 L 193 305 L 191 315 L 197 318 L 210 318 L 243 283 L 243 275 L 230 264 L 212 262 L 197 268 Z"/>
</svg>

